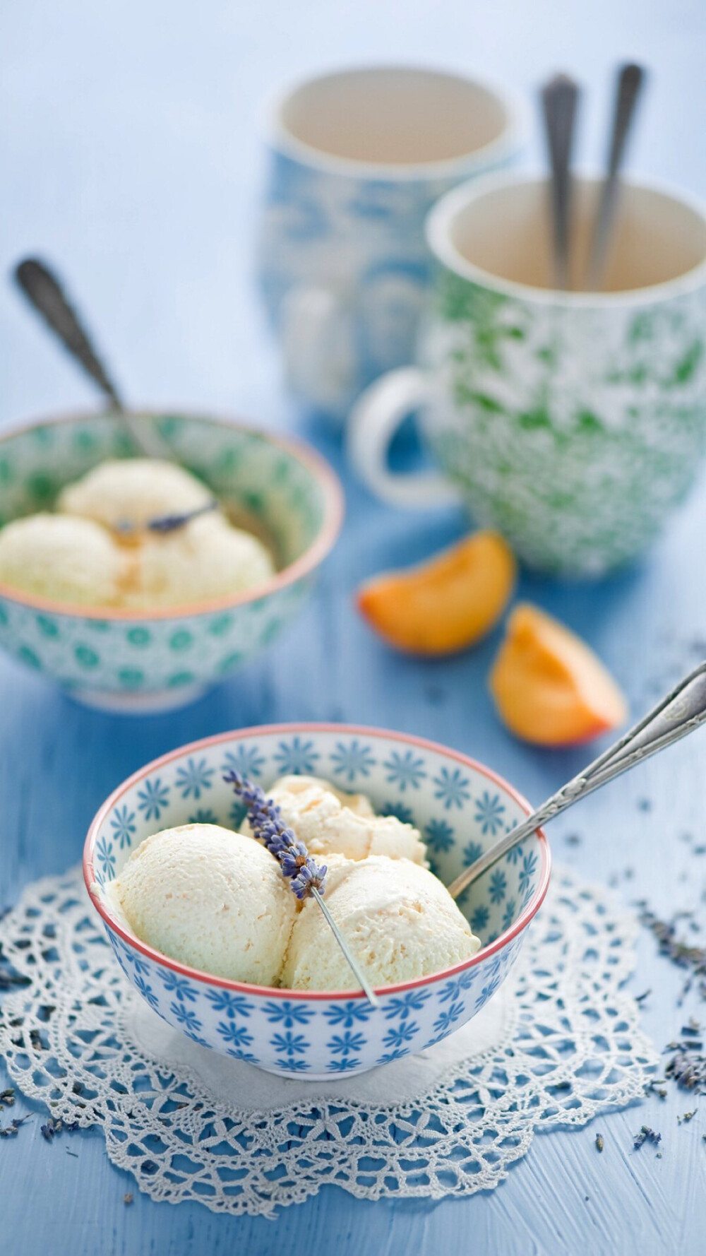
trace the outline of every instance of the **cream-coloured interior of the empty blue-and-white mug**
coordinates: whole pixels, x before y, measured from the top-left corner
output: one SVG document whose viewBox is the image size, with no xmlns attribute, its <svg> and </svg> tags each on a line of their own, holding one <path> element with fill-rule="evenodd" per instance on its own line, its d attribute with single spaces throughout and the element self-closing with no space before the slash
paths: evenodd
<svg viewBox="0 0 706 1256">
<path fill-rule="evenodd" d="M 310 154 L 364 166 L 459 161 L 505 138 L 508 106 L 490 88 L 440 70 L 369 67 L 294 88 L 279 129 Z M 389 176 L 389 172 L 387 172 Z"/>
</svg>

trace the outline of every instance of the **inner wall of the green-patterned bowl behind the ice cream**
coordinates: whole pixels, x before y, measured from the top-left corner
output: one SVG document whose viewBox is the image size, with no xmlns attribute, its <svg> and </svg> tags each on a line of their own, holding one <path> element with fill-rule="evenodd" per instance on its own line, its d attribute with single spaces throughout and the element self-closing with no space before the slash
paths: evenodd
<svg viewBox="0 0 706 1256">
<path fill-rule="evenodd" d="M 143 414 L 219 497 L 234 522 L 271 546 L 278 568 L 296 561 L 319 535 L 327 494 L 308 458 L 265 433 L 196 414 Z M 88 413 L 46 420 L 0 438 L 0 525 L 50 510 L 59 491 L 104 458 L 134 450 L 119 420 Z"/>
</svg>

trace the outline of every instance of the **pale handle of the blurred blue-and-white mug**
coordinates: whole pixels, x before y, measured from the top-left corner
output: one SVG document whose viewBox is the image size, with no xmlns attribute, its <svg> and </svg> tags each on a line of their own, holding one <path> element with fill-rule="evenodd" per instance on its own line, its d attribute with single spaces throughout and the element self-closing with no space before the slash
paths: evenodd
<svg viewBox="0 0 706 1256">
<path fill-rule="evenodd" d="M 357 374 L 352 318 L 329 288 L 298 285 L 281 306 L 284 377 L 289 391 L 332 414 L 344 414 Z"/>
</svg>

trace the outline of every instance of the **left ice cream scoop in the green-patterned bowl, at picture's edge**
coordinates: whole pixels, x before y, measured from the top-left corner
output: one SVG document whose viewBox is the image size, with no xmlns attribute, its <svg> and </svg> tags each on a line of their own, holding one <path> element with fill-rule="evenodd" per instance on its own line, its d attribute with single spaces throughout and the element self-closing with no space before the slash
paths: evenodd
<svg viewBox="0 0 706 1256">
<path fill-rule="evenodd" d="M 124 554 L 90 519 L 29 515 L 0 530 L 0 582 L 24 593 L 112 607 L 124 578 Z"/>
</svg>

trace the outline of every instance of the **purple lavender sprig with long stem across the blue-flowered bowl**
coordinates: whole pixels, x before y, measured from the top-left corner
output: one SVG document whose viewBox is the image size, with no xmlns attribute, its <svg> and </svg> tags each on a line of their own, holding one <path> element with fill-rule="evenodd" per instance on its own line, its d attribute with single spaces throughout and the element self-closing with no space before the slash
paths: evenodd
<svg viewBox="0 0 706 1256">
<path fill-rule="evenodd" d="M 268 848 L 270 854 L 275 857 L 281 868 L 283 877 L 289 879 L 290 889 L 296 894 L 296 898 L 312 897 L 318 904 L 347 963 L 350 966 L 356 981 L 361 982 L 369 1002 L 373 1007 L 377 1007 L 379 1004 L 377 995 L 356 957 L 350 953 L 343 933 L 324 903 L 323 894 L 328 872 L 325 864 L 318 864 L 312 859 L 307 847 L 303 842 L 299 842 L 294 829 L 288 828 L 284 823 L 276 803 L 266 798 L 259 785 L 254 785 L 253 781 L 235 770 L 226 772 L 224 780 L 227 785 L 232 785 L 237 796 L 245 803 L 253 833 Z"/>
</svg>

